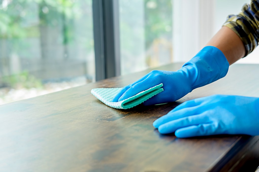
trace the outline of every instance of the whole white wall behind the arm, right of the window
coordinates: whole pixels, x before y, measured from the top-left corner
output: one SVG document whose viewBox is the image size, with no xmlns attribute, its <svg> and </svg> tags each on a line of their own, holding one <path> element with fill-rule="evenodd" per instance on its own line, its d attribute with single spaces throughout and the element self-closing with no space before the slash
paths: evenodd
<svg viewBox="0 0 259 172">
<path fill-rule="evenodd" d="M 174 62 L 191 59 L 249 0 L 172 0 Z M 259 48 L 237 63 L 258 63 Z"/>
</svg>

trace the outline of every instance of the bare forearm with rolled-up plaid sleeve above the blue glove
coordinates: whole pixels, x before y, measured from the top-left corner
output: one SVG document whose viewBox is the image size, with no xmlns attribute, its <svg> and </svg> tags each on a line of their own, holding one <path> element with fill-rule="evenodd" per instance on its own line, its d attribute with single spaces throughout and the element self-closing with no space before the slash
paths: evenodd
<svg viewBox="0 0 259 172">
<path fill-rule="evenodd" d="M 207 46 L 219 48 L 229 64 L 251 53 L 259 42 L 259 1 L 252 0 L 242 7 L 242 12 L 229 15 L 219 32 Z M 224 40 L 224 41 L 222 41 Z"/>
</svg>

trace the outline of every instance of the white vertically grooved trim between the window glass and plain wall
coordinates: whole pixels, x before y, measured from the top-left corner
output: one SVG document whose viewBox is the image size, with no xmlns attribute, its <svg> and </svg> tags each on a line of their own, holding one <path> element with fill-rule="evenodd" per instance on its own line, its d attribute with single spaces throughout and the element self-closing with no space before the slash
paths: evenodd
<svg viewBox="0 0 259 172">
<path fill-rule="evenodd" d="M 188 61 L 213 36 L 215 0 L 173 0 L 174 62 Z"/>
</svg>

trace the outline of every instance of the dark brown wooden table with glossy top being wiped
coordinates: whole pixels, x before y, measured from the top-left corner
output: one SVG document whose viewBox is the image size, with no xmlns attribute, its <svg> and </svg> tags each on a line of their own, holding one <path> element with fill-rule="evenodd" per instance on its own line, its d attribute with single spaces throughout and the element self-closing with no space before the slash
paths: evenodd
<svg viewBox="0 0 259 172">
<path fill-rule="evenodd" d="M 175 71 L 181 65 L 156 69 Z M 178 139 L 159 134 L 152 123 L 198 97 L 259 97 L 259 65 L 233 65 L 225 78 L 165 105 L 117 110 L 90 93 L 92 88 L 123 87 L 149 71 L 0 106 L 0 171 L 254 171 L 258 167 L 257 136 Z"/>
</svg>

